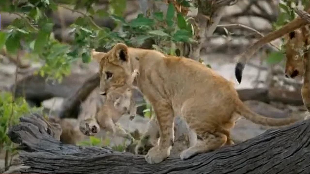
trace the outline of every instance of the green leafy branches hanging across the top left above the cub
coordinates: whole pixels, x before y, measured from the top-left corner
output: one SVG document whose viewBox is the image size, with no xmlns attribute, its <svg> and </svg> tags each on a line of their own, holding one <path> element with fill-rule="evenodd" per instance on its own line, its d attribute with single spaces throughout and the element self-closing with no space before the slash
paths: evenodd
<svg viewBox="0 0 310 174">
<path fill-rule="evenodd" d="M 193 31 L 183 15 L 177 14 L 173 4 L 169 4 L 167 14 L 156 11 L 150 16 L 139 14 L 137 18 L 127 22 L 123 18 L 126 0 L 110 0 L 107 9 L 95 9 L 96 0 L 57 1 L 73 6 L 57 4 L 54 0 L 32 0 L 26 2 L 2 0 L 0 11 L 18 15 L 5 31 L 0 32 L 0 48 L 6 46 L 10 54 L 16 54 L 19 49 L 28 50 L 36 61 L 43 61 L 44 66 L 37 72 L 41 76 L 48 76 L 62 80 L 70 73 L 71 63 L 82 59 L 91 61 L 90 49 L 103 47 L 110 49 L 115 43 L 123 42 L 130 46 L 140 46 L 145 39 L 156 40 L 155 49 L 166 54 L 175 54 L 176 42 L 192 42 Z M 190 6 L 188 0 L 178 0 L 183 6 Z M 79 8 L 86 8 L 86 13 L 78 17 L 73 24 L 71 44 L 61 43 L 53 38 L 53 21 L 49 11 L 56 11 L 63 7 L 76 12 Z M 81 12 L 78 12 L 81 13 Z M 100 27 L 93 21 L 95 16 L 109 16 L 115 20 L 119 31 L 111 31 Z"/>
</svg>

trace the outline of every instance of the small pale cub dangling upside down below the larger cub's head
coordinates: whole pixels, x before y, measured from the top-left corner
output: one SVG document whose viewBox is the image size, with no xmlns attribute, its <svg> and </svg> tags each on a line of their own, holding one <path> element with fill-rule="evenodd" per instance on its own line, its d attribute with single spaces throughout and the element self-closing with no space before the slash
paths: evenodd
<svg viewBox="0 0 310 174">
<path fill-rule="evenodd" d="M 130 114 L 130 120 L 134 119 L 137 109 L 135 100 L 131 96 L 131 86 L 136 75 L 137 71 L 135 70 L 127 85 L 107 95 L 102 108 L 100 108 L 95 117 L 81 120 L 79 128 L 83 134 L 94 136 L 101 128 L 113 133 L 113 136 L 116 135 L 130 139 L 131 141 L 134 140 L 134 138 L 116 122 L 126 113 Z"/>
</svg>

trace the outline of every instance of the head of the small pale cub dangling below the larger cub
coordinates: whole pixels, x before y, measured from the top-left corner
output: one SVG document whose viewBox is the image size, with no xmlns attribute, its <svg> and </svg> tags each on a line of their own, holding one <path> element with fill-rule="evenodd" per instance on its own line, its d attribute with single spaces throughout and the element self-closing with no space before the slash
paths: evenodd
<svg viewBox="0 0 310 174">
<path fill-rule="evenodd" d="M 100 131 L 99 124 L 95 119 L 85 119 L 80 122 L 80 131 L 87 136 L 94 136 Z"/>
</svg>

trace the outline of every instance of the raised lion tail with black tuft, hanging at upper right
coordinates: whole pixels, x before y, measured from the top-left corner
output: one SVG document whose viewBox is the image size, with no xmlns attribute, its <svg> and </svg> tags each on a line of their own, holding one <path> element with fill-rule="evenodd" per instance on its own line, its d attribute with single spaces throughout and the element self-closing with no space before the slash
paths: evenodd
<svg viewBox="0 0 310 174">
<path fill-rule="evenodd" d="M 310 8 L 307 9 L 307 12 L 310 13 Z M 290 33 L 291 31 L 300 28 L 304 25 L 308 24 L 307 21 L 301 19 L 300 17 L 292 20 L 290 23 L 284 25 L 282 28 L 272 31 L 268 33 L 266 36 L 260 38 L 258 41 L 256 41 L 253 45 L 251 45 L 245 52 L 243 52 L 240 57 L 237 60 L 237 64 L 235 67 L 235 76 L 237 78 L 237 81 L 241 83 L 242 79 L 242 72 L 246 65 L 246 62 L 252 57 L 252 55 L 263 45 L 269 43 L 270 41 L 273 41 L 287 33 Z"/>
</svg>

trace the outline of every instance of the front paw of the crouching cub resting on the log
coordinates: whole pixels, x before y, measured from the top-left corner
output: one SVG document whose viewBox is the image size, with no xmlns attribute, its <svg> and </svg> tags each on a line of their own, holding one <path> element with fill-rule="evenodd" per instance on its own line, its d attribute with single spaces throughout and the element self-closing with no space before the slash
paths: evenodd
<svg viewBox="0 0 310 174">
<path fill-rule="evenodd" d="M 170 155 L 171 148 L 160 148 L 159 146 L 154 146 L 145 155 L 145 160 L 149 164 L 157 164 L 162 162 Z"/>
</svg>

